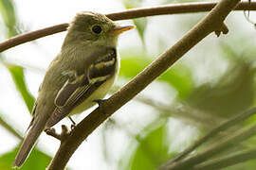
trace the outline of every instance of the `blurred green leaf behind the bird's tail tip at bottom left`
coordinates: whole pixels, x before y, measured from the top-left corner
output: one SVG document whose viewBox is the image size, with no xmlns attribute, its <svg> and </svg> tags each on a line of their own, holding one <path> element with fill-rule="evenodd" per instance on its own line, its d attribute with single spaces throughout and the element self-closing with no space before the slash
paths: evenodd
<svg viewBox="0 0 256 170">
<path fill-rule="evenodd" d="M 11 166 L 14 161 L 14 158 L 16 157 L 18 148 L 19 147 L 16 147 L 15 149 L 0 156 L 1 170 L 12 169 Z M 32 170 L 32 169 L 45 170 L 50 161 L 51 161 L 50 156 L 46 155 L 46 153 L 35 148 L 31 151 L 29 157 L 27 158 L 27 161 L 25 161 L 21 170 Z"/>
</svg>

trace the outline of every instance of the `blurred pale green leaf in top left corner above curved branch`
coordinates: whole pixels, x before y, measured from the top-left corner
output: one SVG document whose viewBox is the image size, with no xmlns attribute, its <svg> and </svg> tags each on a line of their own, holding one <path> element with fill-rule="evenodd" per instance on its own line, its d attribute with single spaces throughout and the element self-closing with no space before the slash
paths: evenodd
<svg viewBox="0 0 256 170">
<path fill-rule="evenodd" d="M 17 20 L 14 10 L 13 1 L 11 0 L 0 0 L 0 13 L 3 21 L 8 28 L 7 35 L 12 37 L 18 34 L 17 31 Z"/>
</svg>

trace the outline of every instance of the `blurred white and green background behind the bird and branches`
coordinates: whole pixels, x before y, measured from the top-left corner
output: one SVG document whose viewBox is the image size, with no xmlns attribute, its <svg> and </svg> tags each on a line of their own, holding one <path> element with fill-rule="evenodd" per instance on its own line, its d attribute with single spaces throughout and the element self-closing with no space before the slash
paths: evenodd
<svg viewBox="0 0 256 170">
<path fill-rule="evenodd" d="M 110 13 L 126 8 L 194 1 L 175 0 L 0 0 L 0 41 L 70 22 L 77 12 Z M 198 1 L 205 2 L 205 1 Z M 121 69 L 112 92 L 178 41 L 206 13 L 164 15 L 119 21 L 137 29 L 119 38 Z M 255 15 L 256 16 L 256 15 Z M 254 12 L 250 19 L 256 22 Z M 118 110 L 82 143 L 68 169 L 151 170 L 173 158 L 212 127 L 255 105 L 256 30 L 243 11 L 229 14 L 229 34 L 211 34 L 136 98 Z M 34 98 L 65 32 L 0 54 L 0 169 L 11 169 L 27 129 Z M 110 94 L 111 94 L 110 93 Z M 93 109 L 91 109 L 93 110 Z M 74 116 L 80 122 L 91 110 Z M 255 117 L 241 127 L 255 122 Z M 61 125 L 70 126 L 68 120 Z M 224 135 L 229 135 L 226 132 Z M 213 141 L 214 143 L 214 141 Z M 247 141 L 247 147 L 255 145 Z M 45 169 L 59 142 L 42 134 L 22 169 Z M 227 169 L 255 169 L 254 161 Z"/>
</svg>

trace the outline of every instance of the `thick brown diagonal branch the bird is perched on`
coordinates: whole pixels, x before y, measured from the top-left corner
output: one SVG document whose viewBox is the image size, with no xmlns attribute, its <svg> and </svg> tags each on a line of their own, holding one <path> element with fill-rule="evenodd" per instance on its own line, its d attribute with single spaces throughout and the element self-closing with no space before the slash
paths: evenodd
<svg viewBox="0 0 256 170">
<path fill-rule="evenodd" d="M 196 43 L 202 41 L 211 32 L 223 26 L 224 20 L 238 2 L 239 0 L 222 0 L 218 3 L 202 22 L 194 26 L 172 48 L 160 55 L 117 93 L 114 93 L 109 99 L 104 101 L 101 105 L 101 110 L 104 110 L 104 114 L 97 108 L 85 117 L 80 124 L 73 128 L 66 140 L 61 143 L 55 157 L 48 166 L 48 170 L 64 169 L 72 154 L 93 130 L 99 127 L 116 110 L 119 110 L 120 107 L 135 97 L 137 93 L 145 89 L 157 76 L 165 72 Z"/>
</svg>

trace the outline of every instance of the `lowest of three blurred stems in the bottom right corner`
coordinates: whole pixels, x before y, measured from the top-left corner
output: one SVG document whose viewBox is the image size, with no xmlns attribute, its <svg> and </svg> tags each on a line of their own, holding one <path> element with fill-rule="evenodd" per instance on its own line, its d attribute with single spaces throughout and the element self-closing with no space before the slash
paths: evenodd
<svg viewBox="0 0 256 170">
<path fill-rule="evenodd" d="M 207 161 L 202 164 L 198 164 L 191 168 L 191 170 L 215 170 L 222 169 L 228 166 L 232 166 L 237 163 L 256 159 L 256 149 L 251 149 L 243 152 L 238 152 L 220 159 Z"/>
</svg>

